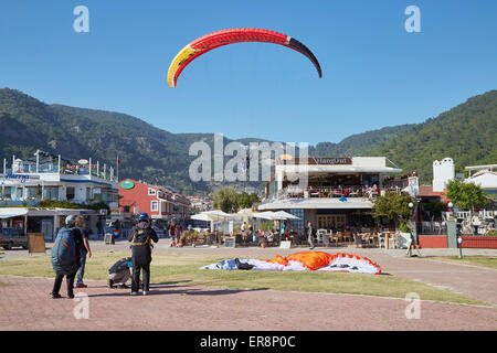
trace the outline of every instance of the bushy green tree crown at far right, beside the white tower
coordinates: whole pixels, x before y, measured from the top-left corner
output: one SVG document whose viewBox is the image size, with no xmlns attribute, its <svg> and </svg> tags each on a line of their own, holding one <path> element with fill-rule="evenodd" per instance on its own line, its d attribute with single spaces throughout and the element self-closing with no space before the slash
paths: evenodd
<svg viewBox="0 0 497 353">
<path fill-rule="evenodd" d="M 447 183 L 446 196 L 455 206 L 472 212 L 474 208 L 485 207 L 491 202 L 479 185 L 461 180 L 451 180 Z"/>
</svg>

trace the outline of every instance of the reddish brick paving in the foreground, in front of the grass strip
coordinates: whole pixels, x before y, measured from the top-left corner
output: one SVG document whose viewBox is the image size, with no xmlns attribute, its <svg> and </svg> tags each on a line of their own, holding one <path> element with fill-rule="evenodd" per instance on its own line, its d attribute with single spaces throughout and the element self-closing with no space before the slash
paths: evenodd
<svg viewBox="0 0 497 353">
<path fill-rule="evenodd" d="M 52 279 L 1 276 L 0 330 L 496 330 L 497 309 L 366 296 L 156 284 L 149 297 L 88 281 L 87 299 L 49 299 Z M 87 300 L 87 319 L 82 309 Z M 80 318 L 80 319 L 78 319 Z"/>
</svg>

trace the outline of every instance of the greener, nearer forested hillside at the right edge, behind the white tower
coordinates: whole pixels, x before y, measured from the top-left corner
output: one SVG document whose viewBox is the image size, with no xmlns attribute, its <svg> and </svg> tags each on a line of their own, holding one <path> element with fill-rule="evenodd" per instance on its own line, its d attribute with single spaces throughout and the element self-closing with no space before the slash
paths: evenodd
<svg viewBox="0 0 497 353">
<path fill-rule="evenodd" d="M 405 173 L 416 171 L 431 183 L 433 161 L 450 157 L 456 173 L 467 165 L 497 163 L 497 90 L 465 103 L 376 146 L 370 156 L 387 156 Z"/>
</svg>

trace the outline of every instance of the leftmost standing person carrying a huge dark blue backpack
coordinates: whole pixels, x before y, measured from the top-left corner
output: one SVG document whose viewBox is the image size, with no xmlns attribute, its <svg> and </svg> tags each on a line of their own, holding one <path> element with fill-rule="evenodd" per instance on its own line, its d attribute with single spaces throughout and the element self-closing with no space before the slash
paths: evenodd
<svg viewBox="0 0 497 353">
<path fill-rule="evenodd" d="M 76 216 L 70 215 L 65 218 L 65 227 L 57 233 L 55 244 L 52 247 L 52 267 L 55 272 L 55 280 L 51 297 L 62 298 L 59 293 L 64 279 L 67 284 L 67 298 L 74 298 L 74 278 L 81 261 L 81 249 L 83 247 L 83 235 L 75 227 Z"/>
</svg>

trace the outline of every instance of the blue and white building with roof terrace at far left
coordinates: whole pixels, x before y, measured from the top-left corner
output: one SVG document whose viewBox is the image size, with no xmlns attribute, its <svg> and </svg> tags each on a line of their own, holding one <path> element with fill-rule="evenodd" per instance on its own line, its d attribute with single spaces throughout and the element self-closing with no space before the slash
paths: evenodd
<svg viewBox="0 0 497 353">
<path fill-rule="evenodd" d="M 101 168 L 92 159 L 76 162 L 40 150 L 30 159 L 13 156 L 10 165 L 3 160 L 0 183 L 0 225 L 24 233 L 44 233 L 46 239 L 52 239 L 65 216 L 72 214 L 84 215 L 89 232 L 99 234 L 106 213 L 85 205 L 103 202 L 117 208 L 117 176 L 113 168 Z M 70 202 L 80 207 L 43 208 L 42 201 Z"/>
</svg>

